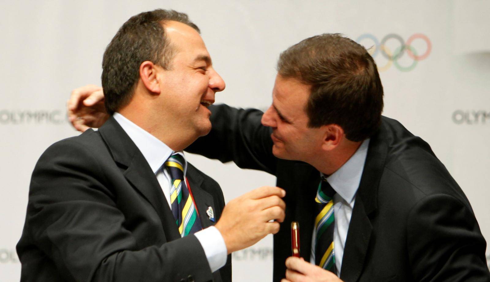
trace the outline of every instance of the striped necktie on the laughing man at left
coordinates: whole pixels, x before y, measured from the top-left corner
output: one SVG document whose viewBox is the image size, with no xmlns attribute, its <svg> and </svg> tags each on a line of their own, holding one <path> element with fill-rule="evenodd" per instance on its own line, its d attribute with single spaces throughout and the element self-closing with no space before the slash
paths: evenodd
<svg viewBox="0 0 490 282">
<path fill-rule="evenodd" d="M 170 203 L 180 236 L 194 234 L 202 227 L 199 216 L 197 216 L 196 206 L 185 184 L 185 159 L 180 154 L 174 153 L 164 165 L 172 178 Z"/>
</svg>

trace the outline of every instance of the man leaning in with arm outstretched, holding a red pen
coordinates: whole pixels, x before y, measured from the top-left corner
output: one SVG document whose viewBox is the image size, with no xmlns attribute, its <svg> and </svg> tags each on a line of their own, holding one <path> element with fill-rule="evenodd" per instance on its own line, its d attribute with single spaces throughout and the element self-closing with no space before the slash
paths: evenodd
<svg viewBox="0 0 490 282">
<path fill-rule="evenodd" d="M 425 141 L 381 116 L 383 88 L 365 48 L 338 34 L 288 48 L 272 100 L 265 113 L 212 107 L 210 134 L 187 150 L 267 171 L 287 191 L 274 282 L 490 281 L 466 196 Z M 328 187 L 329 202 L 317 203 Z M 321 205 L 334 220 L 322 221 Z M 292 221 L 304 260 L 288 258 Z M 333 222 L 330 252 L 319 248 L 321 222 Z"/>
</svg>

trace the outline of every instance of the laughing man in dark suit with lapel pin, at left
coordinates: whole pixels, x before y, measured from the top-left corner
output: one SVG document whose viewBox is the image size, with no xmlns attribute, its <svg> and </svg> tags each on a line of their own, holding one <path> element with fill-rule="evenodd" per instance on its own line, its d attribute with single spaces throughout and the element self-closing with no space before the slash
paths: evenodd
<svg viewBox="0 0 490 282">
<path fill-rule="evenodd" d="M 223 209 L 219 185 L 185 161 L 225 87 L 199 29 L 175 11 L 136 15 L 102 68 L 111 117 L 51 145 L 34 169 L 21 281 L 231 281 L 229 254 L 279 230 L 269 221 L 283 220 L 284 191 Z"/>
</svg>

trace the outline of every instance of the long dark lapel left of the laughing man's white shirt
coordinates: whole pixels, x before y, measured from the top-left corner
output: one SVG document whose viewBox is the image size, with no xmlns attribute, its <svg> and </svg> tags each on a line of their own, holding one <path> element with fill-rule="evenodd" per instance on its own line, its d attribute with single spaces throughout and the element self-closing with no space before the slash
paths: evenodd
<svg viewBox="0 0 490 282">
<path fill-rule="evenodd" d="M 114 161 L 124 169 L 124 177 L 157 212 L 167 241 L 180 238 L 162 188 L 138 147 L 113 117 L 100 127 L 99 132 L 111 151 Z"/>
</svg>

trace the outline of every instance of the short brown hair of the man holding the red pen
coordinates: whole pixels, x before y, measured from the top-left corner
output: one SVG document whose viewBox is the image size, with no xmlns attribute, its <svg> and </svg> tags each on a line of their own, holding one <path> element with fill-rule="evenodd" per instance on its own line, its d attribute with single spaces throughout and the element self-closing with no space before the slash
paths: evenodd
<svg viewBox="0 0 490 282">
<path fill-rule="evenodd" d="M 381 123 L 383 86 L 368 51 L 342 34 L 307 38 L 281 53 L 278 74 L 311 86 L 309 127 L 337 124 L 351 141 L 372 136 Z"/>
</svg>

